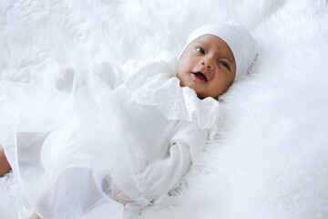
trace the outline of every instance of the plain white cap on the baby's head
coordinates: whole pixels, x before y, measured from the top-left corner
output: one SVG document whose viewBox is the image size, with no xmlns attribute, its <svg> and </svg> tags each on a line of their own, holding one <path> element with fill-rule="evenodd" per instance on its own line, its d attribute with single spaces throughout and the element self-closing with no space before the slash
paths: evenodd
<svg viewBox="0 0 328 219">
<path fill-rule="evenodd" d="M 194 30 L 188 36 L 187 43 L 180 55 L 192 41 L 203 35 L 218 36 L 231 48 L 236 62 L 235 80 L 245 74 L 248 68 L 251 67 L 257 54 L 257 45 L 250 32 L 241 23 L 230 20 L 223 23 L 210 23 L 200 26 L 200 28 Z"/>
</svg>

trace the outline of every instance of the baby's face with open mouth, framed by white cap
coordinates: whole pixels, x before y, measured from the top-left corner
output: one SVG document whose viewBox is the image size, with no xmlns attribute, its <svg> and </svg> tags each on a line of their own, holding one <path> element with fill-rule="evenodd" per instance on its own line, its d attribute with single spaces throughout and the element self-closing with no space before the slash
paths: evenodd
<svg viewBox="0 0 328 219">
<path fill-rule="evenodd" d="M 231 86 L 235 75 L 231 48 L 213 35 L 200 36 L 186 47 L 177 73 L 180 85 L 194 89 L 200 99 L 218 98 Z"/>
</svg>

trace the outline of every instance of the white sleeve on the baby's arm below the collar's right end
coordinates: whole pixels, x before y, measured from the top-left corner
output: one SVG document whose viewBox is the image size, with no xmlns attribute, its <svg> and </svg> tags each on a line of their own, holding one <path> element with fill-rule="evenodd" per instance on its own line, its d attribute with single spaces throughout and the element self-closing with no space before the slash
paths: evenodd
<svg viewBox="0 0 328 219">
<path fill-rule="evenodd" d="M 207 130 L 189 121 L 178 122 L 169 141 L 169 157 L 149 163 L 144 172 L 137 174 L 138 186 L 147 199 L 156 199 L 179 186 L 181 177 L 188 172 L 205 145 Z"/>
</svg>

